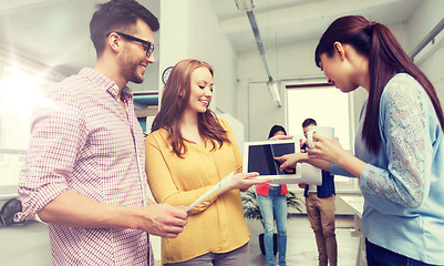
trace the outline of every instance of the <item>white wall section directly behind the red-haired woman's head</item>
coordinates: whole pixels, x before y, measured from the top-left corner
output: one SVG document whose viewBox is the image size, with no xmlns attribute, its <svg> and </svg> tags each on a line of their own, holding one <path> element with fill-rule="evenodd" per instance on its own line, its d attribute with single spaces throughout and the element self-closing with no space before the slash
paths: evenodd
<svg viewBox="0 0 444 266">
<path fill-rule="evenodd" d="M 209 63 L 215 71 L 211 109 L 236 114 L 236 54 L 208 1 L 161 1 L 161 74 L 183 59 Z"/>
</svg>

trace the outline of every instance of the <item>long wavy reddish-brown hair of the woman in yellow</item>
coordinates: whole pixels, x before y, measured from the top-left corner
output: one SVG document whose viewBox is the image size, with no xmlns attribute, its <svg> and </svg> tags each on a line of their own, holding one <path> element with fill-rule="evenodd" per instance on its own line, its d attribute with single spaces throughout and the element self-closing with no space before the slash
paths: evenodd
<svg viewBox="0 0 444 266">
<path fill-rule="evenodd" d="M 189 102 L 192 74 L 198 68 L 207 68 L 214 76 L 211 65 L 198 60 L 182 60 L 173 68 L 162 93 L 161 110 L 153 121 L 152 132 L 158 129 L 167 130 L 173 152 L 179 157 L 186 153 L 186 146 L 178 122 Z M 200 136 L 211 142 L 213 150 L 216 149 L 216 142 L 219 144 L 218 149 L 224 143 L 230 143 L 227 132 L 211 110 L 207 109 L 205 113 L 198 113 L 197 122 Z"/>
</svg>

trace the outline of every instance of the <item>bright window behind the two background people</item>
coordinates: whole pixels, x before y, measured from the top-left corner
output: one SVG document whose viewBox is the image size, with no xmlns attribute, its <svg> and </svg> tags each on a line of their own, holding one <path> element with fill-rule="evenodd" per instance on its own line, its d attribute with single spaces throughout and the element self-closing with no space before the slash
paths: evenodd
<svg viewBox="0 0 444 266">
<path fill-rule="evenodd" d="M 314 119 L 320 126 L 333 126 L 334 135 L 347 151 L 353 146 L 351 95 L 329 84 L 287 85 L 287 126 L 289 133 L 304 139 L 302 122 Z M 355 191 L 357 178 L 335 176 L 337 191 Z"/>
</svg>

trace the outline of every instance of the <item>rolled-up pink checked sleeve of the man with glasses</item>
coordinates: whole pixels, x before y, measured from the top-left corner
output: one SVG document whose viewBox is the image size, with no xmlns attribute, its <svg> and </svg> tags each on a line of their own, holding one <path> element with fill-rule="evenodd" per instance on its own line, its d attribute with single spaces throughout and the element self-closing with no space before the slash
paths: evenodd
<svg viewBox="0 0 444 266">
<path fill-rule="evenodd" d="M 85 142 L 76 96 L 63 90 L 48 93 L 34 110 L 27 160 L 19 176 L 22 212 L 16 221 L 35 218 L 47 204 L 69 190 L 78 154 Z"/>
</svg>

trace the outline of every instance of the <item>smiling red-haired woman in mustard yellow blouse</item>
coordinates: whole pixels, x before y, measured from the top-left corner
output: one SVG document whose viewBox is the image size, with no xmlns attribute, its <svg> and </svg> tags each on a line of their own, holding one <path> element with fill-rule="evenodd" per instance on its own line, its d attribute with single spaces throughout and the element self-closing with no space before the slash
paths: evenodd
<svg viewBox="0 0 444 266">
<path fill-rule="evenodd" d="M 165 265 L 247 265 L 249 231 L 240 191 L 269 182 L 244 174 L 229 124 L 209 109 L 213 68 L 187 59 L 172 70 L 161 110 L 145 140 L 149 187 L 158 203 L 189 206 L 230 173 L 235 175 L 189 211 L 188 225 L 162 239 Z"/>
</svg>

